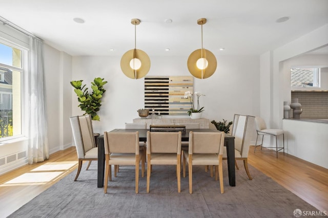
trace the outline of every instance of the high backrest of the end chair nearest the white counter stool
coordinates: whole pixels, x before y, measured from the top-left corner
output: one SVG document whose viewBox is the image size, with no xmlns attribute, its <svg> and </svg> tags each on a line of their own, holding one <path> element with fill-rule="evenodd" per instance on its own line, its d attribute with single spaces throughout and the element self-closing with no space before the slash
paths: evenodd
<svg viewBox="0 0 328 218">
<path fill-rule="evenodd" d="M 255 117 L 235 114 L 232 136 L 235 137 L 235 150 L 240 152 L 242 158 L 248 157 L 251 138 L 253 136 Z"/>
</svg>

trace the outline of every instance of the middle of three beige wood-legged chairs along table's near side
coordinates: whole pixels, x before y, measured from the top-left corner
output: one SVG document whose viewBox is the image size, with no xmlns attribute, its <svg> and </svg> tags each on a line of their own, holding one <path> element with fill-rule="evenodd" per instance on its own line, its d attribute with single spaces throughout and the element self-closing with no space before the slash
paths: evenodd
<svg viewBox="0 0 328 218">
<path fill-rule="evenodd" d="M 181 132 L 147 132 L 147 193 L 149 193 L 152 165 L 176 165 L 178 192 L 180 192 Z"/>
</svg>

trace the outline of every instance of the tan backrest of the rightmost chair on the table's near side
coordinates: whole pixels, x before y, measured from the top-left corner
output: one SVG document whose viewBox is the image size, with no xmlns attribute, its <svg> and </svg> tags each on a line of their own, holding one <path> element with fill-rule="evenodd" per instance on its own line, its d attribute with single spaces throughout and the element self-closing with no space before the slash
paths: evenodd
<svg viewBox="0 0 328 218">
<path fill-rule="evenodd" d="M 223 154 L 224 132 L 190 132 L 189 154 Z"/>
</svg>

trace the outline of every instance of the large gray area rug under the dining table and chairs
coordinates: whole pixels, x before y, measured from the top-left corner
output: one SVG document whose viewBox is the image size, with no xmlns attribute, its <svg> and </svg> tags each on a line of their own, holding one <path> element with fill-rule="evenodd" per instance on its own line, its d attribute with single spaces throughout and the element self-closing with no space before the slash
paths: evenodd
<svg viewBox="0 0 328 218">
<path fill-rule="evenodd" d="M 140 176 L 138 194 L 133 167 L 121 166 L 105 194 L 104 188 L 97 188 L 96 162 L 87 171 L 85 163 L 78 181 L 73 181 L 75 170 L 9 217 L 295 217 L 295 209 L 318 211 L 252 166 L 253 180 L 249 180 L 242 162 L 236 170 L 236 186 L 231 187 L 227 162 L 223 164 L 223 194 L 219 181 L 203 166 L 194 167 L 193 194 L 189 194 L 188 174 L 181 176 L 181 192 L 177 192 L 174 166 L 153 166 L 150 193 L 146 173 Z"/>
</svg>

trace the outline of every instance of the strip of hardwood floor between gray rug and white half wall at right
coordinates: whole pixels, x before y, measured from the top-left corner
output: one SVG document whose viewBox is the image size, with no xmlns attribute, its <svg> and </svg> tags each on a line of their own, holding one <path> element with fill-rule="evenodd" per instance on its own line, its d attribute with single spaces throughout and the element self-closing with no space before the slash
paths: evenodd
<svg viewBox="0 0 328 218">
<path fill-rule="evenodd" d="M 328 211 L 328 169 L 281 152 L 278 158 L 268 150 L 254 154 L 254 146 L 250 146 L 249 164 L 318 210 Z M 238 166 L 243 167 L 241 162 Z"/>
</svg>

